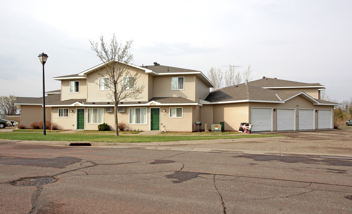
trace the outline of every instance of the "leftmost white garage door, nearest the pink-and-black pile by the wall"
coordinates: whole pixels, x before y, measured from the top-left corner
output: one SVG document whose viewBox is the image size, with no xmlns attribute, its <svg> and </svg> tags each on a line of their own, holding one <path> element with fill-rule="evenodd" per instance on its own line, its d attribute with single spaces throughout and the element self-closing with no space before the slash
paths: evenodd
<svg viewBox="0 0 352 214">
<path fill-rule="evenodd" d="M 272 108 L 252 108 L 253 132 L 272 131 Z"/>
</svg>

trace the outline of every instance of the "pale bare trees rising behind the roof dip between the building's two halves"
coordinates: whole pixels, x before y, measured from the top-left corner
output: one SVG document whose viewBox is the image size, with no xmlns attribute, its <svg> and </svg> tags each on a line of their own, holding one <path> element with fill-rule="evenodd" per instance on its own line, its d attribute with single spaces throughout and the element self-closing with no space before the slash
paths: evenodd
<svg viewBox="0 0 352 214">
<path fill-rule="evenodd" d="M 222 69 L 219 67 L 211 67 L 208 71 L 208 78 L 215 86 L 213 90 L 217 90 L 223 87 L 244 83 L 246 80 L 251 81 L 253 79 L 252 71 L 251 64 L 248 64 L 247 70 L 243 72 L 236 72 L 235 66 L 230 66 L 225 73 L 222 72 Z"/>
</svg>

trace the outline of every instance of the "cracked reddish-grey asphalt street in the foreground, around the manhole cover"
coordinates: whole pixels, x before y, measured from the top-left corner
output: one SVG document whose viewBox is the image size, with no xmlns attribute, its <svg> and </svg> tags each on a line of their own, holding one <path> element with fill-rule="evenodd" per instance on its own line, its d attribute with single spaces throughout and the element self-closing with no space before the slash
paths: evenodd
<svg viewBox="0 0 352 214">
<path fill-rule="evenodd" d="M 0 143 L 0 214 L 352 213 L 352 161 Z M 13 186 L 39 176 L 58 180 Z"/>
</svg>

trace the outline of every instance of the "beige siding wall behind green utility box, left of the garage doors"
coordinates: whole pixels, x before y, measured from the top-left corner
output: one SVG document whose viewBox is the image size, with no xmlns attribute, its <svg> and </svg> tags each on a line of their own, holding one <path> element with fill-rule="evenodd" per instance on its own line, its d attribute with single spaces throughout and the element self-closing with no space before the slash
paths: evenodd
<svg viewBox="0 0 352 214">
<path fill-rule="evenodd" d="M 225 122 L 225 130 L 238 131 L 241 122 L 248 122 L 248 103 L 215 104 L 213 124 L 220 122 Z"/>
</svg>

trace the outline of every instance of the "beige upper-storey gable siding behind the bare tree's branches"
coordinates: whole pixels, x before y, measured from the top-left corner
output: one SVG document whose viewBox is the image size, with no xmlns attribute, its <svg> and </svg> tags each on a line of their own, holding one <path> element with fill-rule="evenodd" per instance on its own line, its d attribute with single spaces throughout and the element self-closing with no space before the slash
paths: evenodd
<svg viewBox="0 0 352 214">
<path fill-rule="evenodd" d="M 130 75 L 134 75 L 136 72 L 140 72 L 140 76 L 136 82 L 136 86 L 142 86 L 144 85 L 144 91 L 142 94 L 139 95 L 140 99 L 132 99 L 128 98 L 127 100 L 121 100 L 121 101 L 147 101 L 148 99 L 148 90 L 147 90 L 147 84 L 148 84 L 148 74 L 142 72 L 142 70 L 138 68 L 133 68 L 130 67 L 129 69 Z M 87 78 L 87 102 L 109 102 L 112 101 L 111 98 L 109 98 L 109 94 L 112 94 L 110 90 L 99 90 L 99 78 L 101 78 L 97 72 L 92 72 L 88 74 Z M 122 81 L 122 80 L 121 80 Z"/>
</svg>

